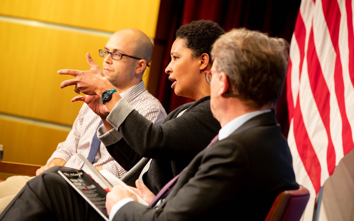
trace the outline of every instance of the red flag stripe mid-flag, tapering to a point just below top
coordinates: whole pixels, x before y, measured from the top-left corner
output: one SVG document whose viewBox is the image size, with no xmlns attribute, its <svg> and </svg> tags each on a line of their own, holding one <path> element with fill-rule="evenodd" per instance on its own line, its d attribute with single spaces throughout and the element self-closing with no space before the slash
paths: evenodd
<svg viewBox="0 0 354 221">
<path fill-rule="evenodd" d="M 307 65 L 312 94 L 327 132 L 327 167 L 329 173 L 332 174 L 334 167 L 336 166 L 336 152 L 333 147 L 330 130 L 330 92 L 328 90 L 325 78 L 323 77 L 320 62 L 318 60 L 313 36 L 313 28 L 311 28 L 309 36 Z"/>
</svg>

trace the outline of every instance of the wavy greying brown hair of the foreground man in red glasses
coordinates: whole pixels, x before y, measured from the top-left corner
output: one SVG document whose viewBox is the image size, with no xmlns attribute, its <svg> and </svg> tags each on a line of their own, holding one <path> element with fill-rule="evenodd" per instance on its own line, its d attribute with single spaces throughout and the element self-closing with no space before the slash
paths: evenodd
<svg viewBox="0 0 354 221">
<path fill-rule="evenodd" d="M 254 107 L 279 98 L 287 65 L 289 43 L 246 28 L 232 29 L 213 43 L 212 59 L 228 76 L 233 91 Z"/>
</svg>

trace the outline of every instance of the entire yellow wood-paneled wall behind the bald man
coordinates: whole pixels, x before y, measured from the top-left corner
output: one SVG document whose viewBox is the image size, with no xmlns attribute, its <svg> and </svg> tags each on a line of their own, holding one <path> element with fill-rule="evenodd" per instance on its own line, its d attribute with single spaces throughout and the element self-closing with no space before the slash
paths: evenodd
<svg viewBox="0 0 354 221">
<path fill-rule="evenodd" d="M 86 53 L 102 66 L 98 50 L 116 30 L 138 28 L 152 41 L 160 0 L 0 0 L 0 144 L 7 162 L 43 165 L 65 140 L 81 102 L 71 76 L 87 70 Z M 148 73 L 143 78 L 147 86 Z M 1 178 L 0 178 L 1 179 Z"/>
</svg>

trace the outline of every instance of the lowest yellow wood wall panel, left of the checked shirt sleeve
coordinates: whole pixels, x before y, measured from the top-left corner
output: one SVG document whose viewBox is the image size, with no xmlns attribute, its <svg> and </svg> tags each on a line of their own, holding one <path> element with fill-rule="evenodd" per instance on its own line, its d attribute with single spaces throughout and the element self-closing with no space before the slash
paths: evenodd
<svg viewBox="0 0 354 221">
<path fill-rule="evenodd" d="M 69 127 L 0 116 L 2 160 L 44 165 L 69 132 Z"/>
</svg>

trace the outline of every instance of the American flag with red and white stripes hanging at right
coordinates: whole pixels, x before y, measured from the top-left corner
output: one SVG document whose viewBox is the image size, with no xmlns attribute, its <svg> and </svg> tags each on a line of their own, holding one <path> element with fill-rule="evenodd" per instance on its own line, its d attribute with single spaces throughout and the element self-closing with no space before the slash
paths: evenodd
<svg viewBox="0 0 354 221">
<path fill-rule="evenodd" d="M 354 137 L 352 0 L 302 0 L 287 73 L 288 143 L 296 180 L 316 194 L 350 150 Z"/>
</svg>

